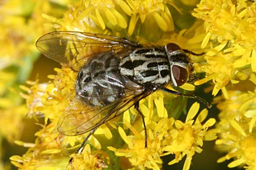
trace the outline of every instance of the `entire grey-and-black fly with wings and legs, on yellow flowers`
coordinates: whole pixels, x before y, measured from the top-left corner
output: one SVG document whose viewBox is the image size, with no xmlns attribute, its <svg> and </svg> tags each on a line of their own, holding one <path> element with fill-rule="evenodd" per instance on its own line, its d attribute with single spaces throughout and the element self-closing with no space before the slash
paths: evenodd
<svg viewBox="0 0 256 170">
<path fill-rule="evenodd" d="M 55 31 L 43 35 L 36 42 L 38 50 L 46 57 L 78 72 L 76 97 L 58 120 L 58 131 L 67 136 L 89 132 L 76 153 L 81 153 L 84 143 L 105 122 L 135 107 L 147 129 L 139 102 L 154 91 L 196 98 L 166 88 L 181 86 L 194 78 L 192 61 L 175 43 L 164 46 L 142 45 L 125 38 L 105 34 L 75 31 Z"/>
</svg>

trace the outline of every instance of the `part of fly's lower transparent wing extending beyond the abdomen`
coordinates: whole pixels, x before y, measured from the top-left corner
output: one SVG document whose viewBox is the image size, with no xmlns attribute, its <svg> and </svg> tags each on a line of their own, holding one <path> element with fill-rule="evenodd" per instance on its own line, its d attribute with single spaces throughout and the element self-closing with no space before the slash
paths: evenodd
<svg viewBox="0 0 256 170">
<path fill-rule="evenodd" d="M 81 96 L 78 95 L 59 118 L 58 131 L 67 136 L 76 136 L 99 127 L 150 94 L 149 92 L 136 93 L 137 91 L 134 91 L 134 93 L 100 108 L 90 108 L 84 105 L 81 102 Z"/>
</svg>

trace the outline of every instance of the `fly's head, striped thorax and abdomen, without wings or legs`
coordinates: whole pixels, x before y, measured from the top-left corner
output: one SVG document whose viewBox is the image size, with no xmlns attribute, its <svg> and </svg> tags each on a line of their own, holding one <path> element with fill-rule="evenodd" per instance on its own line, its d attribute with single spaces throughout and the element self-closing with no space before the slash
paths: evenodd
<svg viewBox="0 0 256 170">
<path fill-rule="evenodd" d="M 76 93 L 87 105 L 109 105 L 129 95 L 130 90 L 140 94 L 169 83 L 183 85 L 192 69 L 189 57 L 173 43 L 136 48 L 119 55 L 123 57 L 111 51 L 98 54 L 79 71 Z"/>
</svg>

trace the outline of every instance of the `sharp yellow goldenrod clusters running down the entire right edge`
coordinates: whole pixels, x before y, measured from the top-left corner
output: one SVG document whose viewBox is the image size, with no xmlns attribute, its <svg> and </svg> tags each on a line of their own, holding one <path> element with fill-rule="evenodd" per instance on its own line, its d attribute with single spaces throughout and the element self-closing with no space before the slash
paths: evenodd
<svg viewBox="0 0 256 170">
<path fill-rule="evenodd" d="M 234 159 L 228 167 L 249 170 L 256 168 L 255 7 L 255 1 L 250 0 L 201 0 L 192 14 L 205 21 L 201 48 L 209 49 L 207 63 L 198 67 L 207 77 L 196 84 L 212 80 L 212 94 L 223 93 L 222 99 L 215 98 L 221 111 L 216 144 L 227 155 L 218 162 Z"/>
</svg>

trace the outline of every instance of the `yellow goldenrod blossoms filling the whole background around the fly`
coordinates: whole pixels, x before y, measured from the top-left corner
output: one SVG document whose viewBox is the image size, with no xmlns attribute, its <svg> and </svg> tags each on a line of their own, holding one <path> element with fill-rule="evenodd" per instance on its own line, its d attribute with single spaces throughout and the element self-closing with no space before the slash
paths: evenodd
<svg viewBox="0 0 256 170">
<path fill-rule="evenodd" d="M 75 154 L 87 134 L 64 136 L 56 124 L 75 97 L 77 73 L 35 47 L 55 30 L 204 52 L 189 56 L 199 79 L 175 90 L 213 107 L 158 91 L 140 102 L 148 148 L 131 108 Z M 2 0 L 0 170 L 256 170 L 255 72 L 254 0 Z"/>
</svg>

